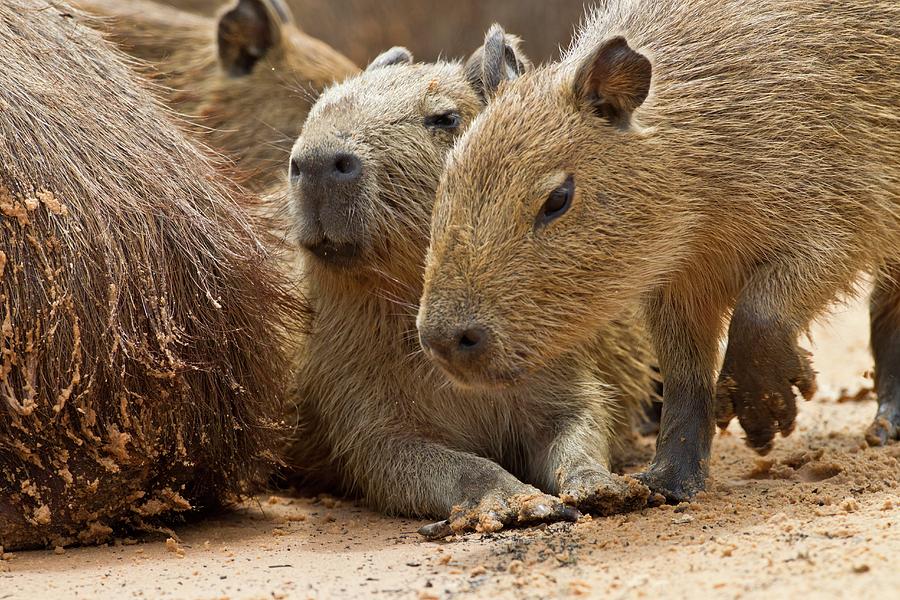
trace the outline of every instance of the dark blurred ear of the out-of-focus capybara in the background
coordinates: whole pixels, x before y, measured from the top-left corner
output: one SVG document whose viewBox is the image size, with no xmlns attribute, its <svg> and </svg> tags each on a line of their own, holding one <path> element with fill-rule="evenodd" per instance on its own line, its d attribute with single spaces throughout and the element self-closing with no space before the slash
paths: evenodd
<svg viewBox="0 0 900 600">
<path fill-rule="evenodd" d="M 291 23 L 282 0 L 238 0 L 219 17 L 219 62 L 232 77 L 253 72 L 256 63 L 281 43 L 281 28 Z"/>
</svg>

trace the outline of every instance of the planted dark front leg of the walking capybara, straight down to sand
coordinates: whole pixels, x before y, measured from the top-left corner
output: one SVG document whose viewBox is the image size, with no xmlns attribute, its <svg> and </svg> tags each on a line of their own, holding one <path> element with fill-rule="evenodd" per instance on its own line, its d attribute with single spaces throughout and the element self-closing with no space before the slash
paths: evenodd
<svg viewBox="0 0 900 600">
<path fill-rule="evenodd" d="M 670 502 L 703 490 L 715 432 L 714 382 L 719 322 L 714 299 L 680 302 L 671 292 L 648 299 L 648 330 L 663 375 L 656 456 L 637 479 Z"/>
</svg>

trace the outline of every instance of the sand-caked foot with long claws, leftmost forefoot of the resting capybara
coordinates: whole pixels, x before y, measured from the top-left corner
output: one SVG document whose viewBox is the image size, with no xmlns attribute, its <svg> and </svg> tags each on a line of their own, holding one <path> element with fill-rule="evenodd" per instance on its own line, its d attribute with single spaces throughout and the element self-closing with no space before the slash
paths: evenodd
<svg viewBox="0 0 900 600">
<path fill-rule="evenodd" d="M 533 493 L 514 495 L 496 492 L 477 504 L 454 507 L 450 518 L 425 525 L 419 529 L 419 533 L 428 539 L 440 539 L 461 533 L 493 533 L 505 527 L 557 521 L 574 522 L 580 517 L 581 513 L 576 509 L 537 489 Z"/>
</svg>

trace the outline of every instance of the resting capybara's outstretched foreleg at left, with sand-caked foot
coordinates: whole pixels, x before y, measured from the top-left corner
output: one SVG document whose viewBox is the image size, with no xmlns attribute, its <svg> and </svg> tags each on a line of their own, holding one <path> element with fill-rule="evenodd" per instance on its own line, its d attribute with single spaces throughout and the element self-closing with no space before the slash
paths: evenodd
<svg viewBox="0 0 900 600">
<path fill-rule="evenodd" d="M 429 538 L 579 516 L 559 498 L 522 483 L 491 460 L 424 440 L 376 444 L 357 466 L 367 494 L 383 508 L 449 515 L 420 530 Z"/>
</svg>

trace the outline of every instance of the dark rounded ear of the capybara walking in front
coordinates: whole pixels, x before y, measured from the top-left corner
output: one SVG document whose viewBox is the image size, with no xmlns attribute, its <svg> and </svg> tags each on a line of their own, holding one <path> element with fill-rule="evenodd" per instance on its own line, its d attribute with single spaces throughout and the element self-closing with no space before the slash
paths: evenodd
<svg viewBox="0 0 900 600">
<path fill-rule="evenodd" d="M 623 37 L 602 42 L 578 67 L 575 96 L 598 115 L 626 127 L 650 93 L 653 67 Z"/>
</svg>

